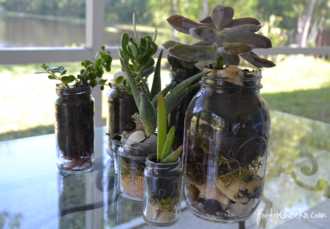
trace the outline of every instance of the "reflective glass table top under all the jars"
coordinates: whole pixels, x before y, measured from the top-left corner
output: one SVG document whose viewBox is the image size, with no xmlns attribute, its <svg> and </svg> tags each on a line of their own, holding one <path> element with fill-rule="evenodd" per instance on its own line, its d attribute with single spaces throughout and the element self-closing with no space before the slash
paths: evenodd
<svg viewBox="0 0 330 229">
<path fill-rule="evenodd" d="M 265 189 L 254 214 L 241 224 L 213 223 L 183 201 L 170 228 L 330 228 L 330 124 L 270 113 Z M 58 171 L 54 134 L 0 142 L 0 228 L 155 228 L 142 218 L 143 203 L 119 196 L 105 133 L 95 130 L 95 167 L 79 175 Z"/>
</svg>

